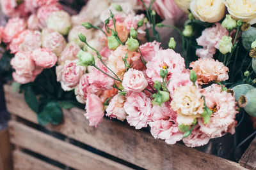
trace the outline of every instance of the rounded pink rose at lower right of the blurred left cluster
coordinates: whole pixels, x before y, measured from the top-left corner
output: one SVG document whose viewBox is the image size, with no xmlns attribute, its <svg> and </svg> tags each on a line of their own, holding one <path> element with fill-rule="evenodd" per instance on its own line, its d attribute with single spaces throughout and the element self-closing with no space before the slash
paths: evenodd
<svg viewBox="0 0 256 170">
<path fill-rule="evenodd" d="M 38 48 L 33 51 L 32 59 L 35 61 L 36 66 L 48 69 L 56 64 L 58 57 L 50 50 Z"/>
</svg>

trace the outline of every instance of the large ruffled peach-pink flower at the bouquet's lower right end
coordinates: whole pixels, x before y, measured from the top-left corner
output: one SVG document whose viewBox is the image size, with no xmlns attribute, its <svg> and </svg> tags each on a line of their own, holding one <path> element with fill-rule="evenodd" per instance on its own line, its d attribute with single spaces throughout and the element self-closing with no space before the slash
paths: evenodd
<svg viewBox="0 0 256 170">
<path fill-rule="evenodd" d="M 205 96 L 206 105 L 216 110 L 212 113 L 209 124 L 204 124 L 202 118 L 198 119 L 200 131 L 204 132 L 210 138 L 220 137 L 226 132 L 234 134 L 234 125 L 236 125 L 236 99 L 232 94 L 221 90 L 221 86 L 212 84 L 202 89 L 202 95 Z"/>
</svg>

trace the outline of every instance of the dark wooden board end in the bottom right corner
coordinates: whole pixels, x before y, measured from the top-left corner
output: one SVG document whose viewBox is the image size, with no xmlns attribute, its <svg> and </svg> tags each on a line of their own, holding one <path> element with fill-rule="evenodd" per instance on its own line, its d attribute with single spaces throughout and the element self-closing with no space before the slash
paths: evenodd
<svg viewBox="0 0 256 170">
<path fill-rule="evenodd" d="M 256 137 L 244 152 L 242 158 L 239 160 L 239 164 L 248 169 L 256 169 Z"/>
</svg>

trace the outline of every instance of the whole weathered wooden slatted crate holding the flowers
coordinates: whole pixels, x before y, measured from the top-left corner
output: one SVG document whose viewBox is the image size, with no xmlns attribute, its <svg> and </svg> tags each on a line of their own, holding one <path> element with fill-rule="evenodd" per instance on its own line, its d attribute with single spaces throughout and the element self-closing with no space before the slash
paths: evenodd
<svg viewBox="0 0 256 170">
<path fill-rule="evenodd" d="M 104 118 L 99 127 L 90 127 L 83 115 L 84 110 L 77 108 L 63 110 L 63 124 L 47 125 L 45 129 L 48 133 L 45 133 L 44 128 L 35 129 L 31 126 L 38 124 L 36 115 L 27 106 L 23 95 L 13 93 L 10 85 L 4 86 L 4 92 L 8 111 L 13 115 L 8 125 L 10 141 L 16 146 L 16 150 L 13 151 L 14 169 L 60 169 L 49 164 L 49 161 L 47 163 L 44 159 L 40 160 L 33 154 L 30 155 L 30 152 L 73 169 L 246 169 L 244 167 L 252 169 L 256 167 L 255 159 L 252 158 L 252 155 L 256 155 L 255 152 L 247 153 L 246 159 L 250 160 L 248 161 L 250 166 L 247 166 L 245 159 L 240 165 L 184 145 L 167 145 L 164 141 L 154 139 L 147 132 L 135 131 L 132 127 L 108 118 Z M 61 134 L 61 138 L 57 138 L 55 132 Z M 255 151 L 256 141 L 253 142 L 252 147 Z M 84 148 L 74 143 L 83 143 L 88 147 Z"/>
</svg>

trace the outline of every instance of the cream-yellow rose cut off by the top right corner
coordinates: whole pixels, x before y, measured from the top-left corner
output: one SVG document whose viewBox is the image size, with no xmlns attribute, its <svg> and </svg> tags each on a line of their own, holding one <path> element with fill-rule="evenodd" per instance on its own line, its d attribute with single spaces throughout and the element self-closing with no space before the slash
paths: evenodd
<svg viewBox="0 0 256 170">
<path fill-rule="evenodd" d="M 224 0 L 228 8 L 228 13 L 236 19 L 242 19 L 243 22 L 249 22 L 251 25 L 256 23 L 256 1 L 255 0 Z"/>
</svg>

